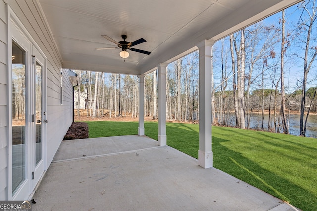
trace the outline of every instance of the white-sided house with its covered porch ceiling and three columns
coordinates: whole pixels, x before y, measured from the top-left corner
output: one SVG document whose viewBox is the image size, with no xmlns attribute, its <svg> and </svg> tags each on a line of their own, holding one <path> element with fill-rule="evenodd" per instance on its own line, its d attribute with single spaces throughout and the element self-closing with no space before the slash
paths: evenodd
<svg viewBox="0 0 317 211">
<path fill-rule="evenodd" d="M 139 105 L 144 75 L 159 69 L 163 146 L 167 64 L 199 49 L 199 165 L 212 167 L 211 46 L 299 1 L 0 0 L 0 200 L 32 197 L 71 125 L 66 68 L 138 75 Z"/>
</svg>

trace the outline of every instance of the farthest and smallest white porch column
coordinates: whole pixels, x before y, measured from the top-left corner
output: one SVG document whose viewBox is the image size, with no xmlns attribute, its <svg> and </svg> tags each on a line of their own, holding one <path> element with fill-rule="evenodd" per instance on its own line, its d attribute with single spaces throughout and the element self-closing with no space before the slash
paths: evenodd
<svg viewBox="0 0 317 211">
<path fill-rule="evenodd" d="M 138 135 L 144 135 L 144 75 L 139 75 L 139 128 Z"/>
</svg>

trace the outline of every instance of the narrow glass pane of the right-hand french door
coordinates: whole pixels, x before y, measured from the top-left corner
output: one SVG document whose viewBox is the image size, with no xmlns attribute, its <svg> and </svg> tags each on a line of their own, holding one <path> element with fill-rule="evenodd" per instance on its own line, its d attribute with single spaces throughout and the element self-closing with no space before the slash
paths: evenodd
<svg viewBox="0 0 317 211">
<path fill-rule="evenodd" d="M 35 165 L 42 159 L 42 66 L 35 65 Z"/>
</svg>

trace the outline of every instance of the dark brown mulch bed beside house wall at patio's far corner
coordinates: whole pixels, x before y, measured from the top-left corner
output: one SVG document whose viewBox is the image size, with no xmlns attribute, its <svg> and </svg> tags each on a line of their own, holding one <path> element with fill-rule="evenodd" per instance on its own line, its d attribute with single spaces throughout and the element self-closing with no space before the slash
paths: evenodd
<svg viewBox="0 0 317 211">
<path fill-rule="evenodd" d="M 63 140 L 83 139 L 88 137 L 88 124 L 84 122 L 73 122 Z"/>
</svg>

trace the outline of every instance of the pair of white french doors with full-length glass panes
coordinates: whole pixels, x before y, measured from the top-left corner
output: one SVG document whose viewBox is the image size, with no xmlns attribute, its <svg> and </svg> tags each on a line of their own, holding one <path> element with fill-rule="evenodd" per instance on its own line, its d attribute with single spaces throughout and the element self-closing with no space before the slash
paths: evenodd
<svg viewBox="0 0 317 211">
<path fill-rule="evenodd" d="M 27 200 L 44 169 L 45 58 L 12 27 L 11 190 L 12 200 Z"/>
</svg>

